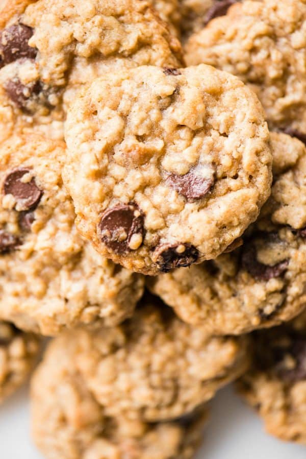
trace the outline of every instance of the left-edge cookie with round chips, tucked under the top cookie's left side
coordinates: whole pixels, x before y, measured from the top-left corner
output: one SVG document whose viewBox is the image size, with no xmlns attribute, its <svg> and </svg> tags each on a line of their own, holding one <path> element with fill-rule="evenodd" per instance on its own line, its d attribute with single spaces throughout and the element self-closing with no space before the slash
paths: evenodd
<svg viewBox="0 0 306 459">
<path fill-rule="evenodd" d="M 133 313 L 142 276 L 85 243 L 63 186 L 62 142 L 15 135 L 0 145 L 0 317 L 56 334 Z"/>
</svg>

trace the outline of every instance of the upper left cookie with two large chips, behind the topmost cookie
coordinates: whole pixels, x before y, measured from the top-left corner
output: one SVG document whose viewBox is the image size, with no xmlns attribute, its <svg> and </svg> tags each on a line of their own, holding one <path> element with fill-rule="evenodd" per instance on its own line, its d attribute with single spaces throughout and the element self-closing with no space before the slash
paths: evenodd
<svg viewBox="0 0 306 459">
<path fill-rule="evenodd" d="M 21 130 L 30 126 L 63 138 L 66 104 L 84 82 L 83 73 L 88 77 L 87 67 L 95 74 L 113 69 L 117 61 L 124 66 L 181 62 L 179 41 L 147 1 L 13 0 L 3 8 L 0 106 L 9 113 L 0 110 L 0 120 L 13 116 Z"/>
</svg>

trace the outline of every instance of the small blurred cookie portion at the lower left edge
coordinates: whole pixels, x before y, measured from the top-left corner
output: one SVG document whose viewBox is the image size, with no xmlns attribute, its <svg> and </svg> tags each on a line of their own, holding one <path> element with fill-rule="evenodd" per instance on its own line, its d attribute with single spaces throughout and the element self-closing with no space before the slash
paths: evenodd
<svg viewBox="0 0 306 459">
<path fill-rule="evenodd" d="M 38 337 L 0 321 L 0 403 L 28 377 L 38 351 Z"/>
</svg>

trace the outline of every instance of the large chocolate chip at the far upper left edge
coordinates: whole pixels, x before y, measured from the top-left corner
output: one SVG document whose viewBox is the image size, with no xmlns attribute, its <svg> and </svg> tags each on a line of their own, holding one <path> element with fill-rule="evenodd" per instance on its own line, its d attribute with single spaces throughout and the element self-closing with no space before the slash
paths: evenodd
<svg viewBox="0 0 306 459">
<path fill-rule="evenodd" d="M 29 46 L 33 29 L 24 24 L 14 24 L 0 34 L 0 67 L 17 59 L 35 59 L 37 49 Z"/>
</svg>

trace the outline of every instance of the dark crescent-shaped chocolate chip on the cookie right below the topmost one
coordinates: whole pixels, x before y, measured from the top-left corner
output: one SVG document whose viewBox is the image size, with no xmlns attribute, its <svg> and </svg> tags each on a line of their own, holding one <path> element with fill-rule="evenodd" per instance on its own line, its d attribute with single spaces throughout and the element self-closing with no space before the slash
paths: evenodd
<svg viewBox="0 0 306 459">
<path fill-rule="evenodd" d="M 249 244 L 244 247 L 241 256 L 242 269 L 246 270 L 257 280 L 268 281 L 274 277 L 281 276 L 287 270 L 288 264 L 288 259 L 279 261 L 279 263 L 276 263 L 273 266 L 260 263 L 257 259 L 256 247 L 253 244 Z"/>
</svg>

